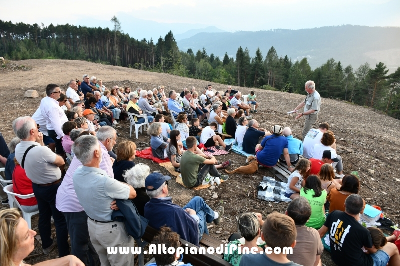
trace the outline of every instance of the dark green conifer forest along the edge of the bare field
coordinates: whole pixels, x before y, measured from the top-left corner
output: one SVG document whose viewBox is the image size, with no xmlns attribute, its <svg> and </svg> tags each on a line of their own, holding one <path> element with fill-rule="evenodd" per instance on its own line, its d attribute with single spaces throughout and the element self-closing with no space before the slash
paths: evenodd
<svg viewBox="0 0 400 266">
<path fill-rule="evenodd" d="M 311 69 L 307 58 L 292 60 L 278 56 L 274 47 L 268 51 L 238 47 L 236 55 L 223 58 L 202 50 L 179 50 L 169 32 L 156 43 L 137 40 L 114 28 L 90 28 L 52 24 L 5 22 L 0 20 L 0 56 L 11 60 L 58 58 L 166 72 L 210 82 L 305 94 L 304 83 L 314 80 L 322 97 L 333 97 L 376 108 L 399 118 L 400 68 L 388 75 L 382 62 L 364 63 L 356 69 L 331 58 Z M 382 40 L 384 41 L 384 40 Z"/>
</svg>

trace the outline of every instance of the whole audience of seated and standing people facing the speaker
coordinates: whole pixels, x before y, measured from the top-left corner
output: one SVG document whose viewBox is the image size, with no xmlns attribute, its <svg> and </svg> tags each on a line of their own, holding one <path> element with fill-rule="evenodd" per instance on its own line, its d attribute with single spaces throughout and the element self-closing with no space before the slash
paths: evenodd
<svg viewBox="0 0 400 266">
<path fill-rule="evenodd" d="M 73 91 L 69 90 L 69 94 L 74 92 L 79 99 L 72 99 L 73 103 L 69 101 L 72 108 L 66 112 L 62 107 L 68 103 L 70 97 L 60 96 L 64 95 L 60 88 L 49 84 L 46 88 L 46 98 L 49 99 L 42 102 L 33 119 L 28 116 L 15 119 L 13 130 L 17 137 L 9 143 L 8 153 L 1 151 L 0 159 L 6 159 L 1 161 L 6 164 L 5 175 L 7 179 L 12 179 L 14 192 L 22 195 L 35 194 L 35 197 L 17 198 L 17 201 L 25 212 L 39 211 L 38 230 L 44 254 L 58 246 L 60 258 L 36 265 L 131 265 L 133 254 L 107 254 L 109 246 L 133 246 L 133 238 L 127 232 L 127 227 L 123 222 L 112 218 L 114 212 L 126 209 L 131 210 L 129 214 L 135 215 L 136 221 L 140 221 L 141 215 L 148 220 L 150 226 L 160 230 L 154 237 L 153 244 L 165 244 L 174 248 L 181 245 L 179 237 L 199 245 L 203 235 L 208 234 L 208 224 L 218 225 L 221 222 L 224 208 L 220 206 L 213 210 L 201 197 L 192 198 L 184 207 L 172 203 L 172 199 L 167 197 L 171 178 L 152 172 L 148 165 L 135 164 L 134 142 L 120 142 L 116 155 L 113 154 L 112 148 L 118 135 L 115 128 L 110 126 L 114 121 L 114 114 L 104 105 L 97 106 L 97 103 L 104 96 L 109 100 L 114 95 L 119 101 L 110 100 L 108 104 L 112 103 L 118 107 L 116 109 L 122 108 L 126 113 L 141 115 L 137 102 L 138 95 L 144 96 L 144 92 L 146 97 L 143 99 L 145 98 L 146 103 L 151 100 L 161 101 L 160 105 L 149 105 L 180 109 L 176 116 L 177 124 L 173 127 L 168 125 L 167 122 L 170 124 L 170 121 L 163 114 L 148 116 L 151 125 L 147 133 L 150 135 L 153 156 L 169 158 L 175 171 L 181 172 L 186 187 L 201 185 L 208 173 L 216 177 L 217 185 L 218 181 L 229 178 L 218 170 L 228 167 L 230 160 L 218 163 L 215 157 L 205 155 L 197 147 L 198 143 L 202 143 L 205 147 L 215 146 L 230 151 L 233 144 L 226 145 L 215 133 L 221 125 L 219 120 L 225 125 L 226 132 L 235 138 L 236 143 L 242 145 L 243 150 L 246 147 L 255 154 L 261 165 L 271 167 L 280 160 L 292 171 L 286 189 L 286 197 L 292 201 L 285 214 L 273 212 L 265 220 L 260 213 L 243 213 L 238 217 L 238 233 L 229 238 L 228 252 L 223 257 L 230 264 L 320 266 L 320 255 L 323 251 L 320 238 L 328 233 L 332 260 L 338 265 L 399 265 L 400 255 L 393 242 L 398 240 L 400 231 L 396 230 L 393 235 L 384 237 L 380 230 L 366 229 L 358 223 L 359 213 L 365 208 L 365 201 L 358 195 L 360 181 L 354 174 L 341 175 L 341 157 L 336 154 L 335 138 L 328 131 L 327 123 L 322 123 L 319 131 L 310 130 L 302 143 L 293 137 L 290 128 L 283 129 L 277 125 L 269 132 L 260 128 L 256 120 L 249 121 L 244 114 L 237 117 L 235 108 L 227 108 L 224 115 L 221 107 L 227 103 L 228 96 L 223 96 L 226 98 L 222 97 L 220 102 L 219 93 L 212 92 L 212 86 L 209 85 L 205 95 L 207 103 L 213 101 L 209 119 L 212 118 L 212 121 L 203 129 L 199 118 L 188 122 L 187 111 L 174 101 L 176 92 L 169 93 L 174 98 L 166 98 L 163 86 L 151 93 L 140 89 L 139 94 L 131 92 L 130 88 L 123 90 L 114 87 L 113 93 L 109 95 L 101 80 L 89 78 L 88 75 L 84 76 L 84 80 L 87 80 L 82 82 L 86 90 L 86 102 L 81 99 L 83 94 L 80 95 L 75 90 L 77 83 L 70 82 L 68 89 Z M 190 92 L 192 96 L 186 97 Z M 200 108 L 199 103 L 194 101 L 195 88 L 190 92 L 186 90 L 184 95 L 190 108 Z M 226 94 L 239 100 L 237 95 L 240 93 L 230 87 Z M 254 93 L 250 96 L 253 96 L 250 98 L 251 104 L 258 106 L 254 103 Z M 183 104 L 184 102 L 185 100 Z M 203 106 L 201 108 L 205 109 Z M 243 109 L 240 111 L 246 111 L 248 115 L 250 111 Z M 206 112 L 202 115 L 204 113 Z M 142 117 L 137 119 L 141 121 L 139 119 Z M 100 123 L 102 126 L 99 126 Z M 195 137 L 198 137 L 199 142 Z M 1 138 L 0 135 L 3 148 Z M 309 149 L 311 141 L 308 138 L 320 141 L 312 141 L 315 142 L 312 151 Z M 187 150 L 183 148 L 184 139 Z M 308 159 L 300 159 L 303 145 L 304 153 L 307 146 L 307 154 L 311 155 L 305 156 L 310 157 Z M 73 157 L 66 171 L 63 171 L 63 153 L 70 153 Z M 26 160 L 25 154 L 28 154 Z M 334 168 L 339 176 L 335 175 Z M 65 175 L 63 179 L 62 172 Z M 28 228 L 19 212 L 12 208 L 15 206 L 10 207 L 11 209 L 0 211 L 0 265 L 24 266 L 26 264 L 22 260 L 34 249 L 36 232 Z M 327 217 L 325 210 L 329 212 Z M 51 234 L 51 216 L 54 217 L 55 237 Z M 338 236 L 339 239 L 334 229 L 338 221 L 342 222 L 341 228 L 344 232 Z M 335 239 L 342 243 L 342 249 L 333 248 Z M 236 249 L 230 249 L 239 244 L 242 249 L 253 248 L 256 254 L 242 255 Z M 367 253 L 362 251 L 362 246 Z M 293 254 L 274 251 L 275 248 L 283 247 L 292 247 Z M 267 248 L 271 248 L 273 252 L 266 254 Z M 154 257 L 156 262 L 150 264 L 151 266 L 190 265 L 182 262 L 183 255 L 179 252 L 158 254 Z"/>
</svg>

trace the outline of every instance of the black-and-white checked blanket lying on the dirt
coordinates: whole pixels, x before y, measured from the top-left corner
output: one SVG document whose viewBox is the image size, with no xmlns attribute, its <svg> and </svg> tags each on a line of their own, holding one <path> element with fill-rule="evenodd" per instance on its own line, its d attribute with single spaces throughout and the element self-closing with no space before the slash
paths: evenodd
<svg viewBox="0 0 400 266">
<path fill-rule="evenodd" d="M 257 198 L 264 201 L 291 201 L 284 196 L 287 184 L 276 181 L 274 178 L 264 176 L 258 186 Z"/>
</svg>

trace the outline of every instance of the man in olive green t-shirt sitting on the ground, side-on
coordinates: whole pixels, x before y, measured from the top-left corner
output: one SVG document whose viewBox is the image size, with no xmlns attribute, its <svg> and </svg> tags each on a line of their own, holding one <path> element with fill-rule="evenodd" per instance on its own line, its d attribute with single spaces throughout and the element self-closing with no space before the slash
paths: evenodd
<svg viewBox="0 0 400 266">
<path fill-rule="evenodd" d="M 221 175 L 218 170 L 216 170 L 216 159 L 214 156 L 195 153 L 197 150 L 197 139 L 195 137 L 188 137 L 186 139 L 186 145 L 187 151 L 183 153 L 180 159 L 180 173 L 182 175 L 183 184 L 186 187 L 192 188 L 201 185 L 208 173 L 222 180 L 227 180 L 229 178 L 229 176 Z"/>
</svg>

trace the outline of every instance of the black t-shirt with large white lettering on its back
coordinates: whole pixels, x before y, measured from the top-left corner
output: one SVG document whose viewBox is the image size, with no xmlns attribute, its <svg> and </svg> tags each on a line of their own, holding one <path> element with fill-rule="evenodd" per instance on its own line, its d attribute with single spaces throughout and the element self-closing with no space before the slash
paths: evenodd
<svg viewBox="0 0 400 266">
<path fill-rule="evenodd" d="M 340 266 L 373 266 L 373 259 L 362 251 L 372 248 L 369 230 L 342 211 L 333 211 L 326 218 L 332 260 Z"/>
</svg>

